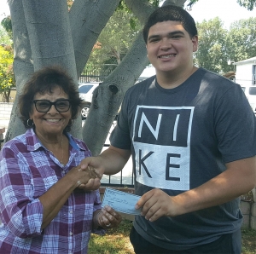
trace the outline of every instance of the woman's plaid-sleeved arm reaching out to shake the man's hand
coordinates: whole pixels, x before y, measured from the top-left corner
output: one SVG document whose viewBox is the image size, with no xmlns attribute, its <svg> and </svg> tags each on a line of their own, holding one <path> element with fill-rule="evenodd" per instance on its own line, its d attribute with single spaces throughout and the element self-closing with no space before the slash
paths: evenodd
<svg viewBox="0 0 256 254">
<path fill-rule="evenodd" d="M 96 177 L 94 172 L 76 167 L 45 192 L 44 179 L 35 168 L 42 164 L 35 161 L 32 166 L 25 158 L 26 153 L 29 152 L 20 153 L 15 145 L 3 147 L 0 153 L 0 216 L 9 230 L 20 238 L 41 234 L 73 189 L 88 182 L 90 177 Z M 44 173 L 44 176 L 50 175 Z M 37 198 L 35 192 L 45 193 Z"/>
</svg>

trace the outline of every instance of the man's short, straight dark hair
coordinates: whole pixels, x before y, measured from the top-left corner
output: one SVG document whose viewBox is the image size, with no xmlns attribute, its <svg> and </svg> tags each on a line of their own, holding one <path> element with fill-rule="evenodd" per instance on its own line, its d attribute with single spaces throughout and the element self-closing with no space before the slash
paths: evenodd
<svg viewBox="0 0 256 254">
<path fill-rule="evenodd" d="M 190 38 L 197 35 L 195 20 L 186 10 L 176 5 L 165 5 L 155 9 L 148 17 L 148 21 L 143 28 L 143 38 L 146 44 L 148 43 L 148 31 L 150 27 L 164 21 L 179 21 L 189 33 Z"/>
</svg>

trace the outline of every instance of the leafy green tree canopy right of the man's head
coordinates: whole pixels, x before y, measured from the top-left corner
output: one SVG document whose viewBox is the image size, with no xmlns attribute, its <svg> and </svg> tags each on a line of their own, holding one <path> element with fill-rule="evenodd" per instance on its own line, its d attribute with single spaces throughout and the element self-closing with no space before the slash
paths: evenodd
<svg viewBox="0 0 256 254">
<path fill-rule="evenodd" d="M 224 74 L 233 71 L 228 61 L 242 61 L 256 55 L 256 18 L 236 21 L 231 24 L 230 30 L 226 30 L 222 21 L 216 17 L 213 20 L 203 20 L 197 24 L 197 28 L 197 66 Z"/>
</svg>

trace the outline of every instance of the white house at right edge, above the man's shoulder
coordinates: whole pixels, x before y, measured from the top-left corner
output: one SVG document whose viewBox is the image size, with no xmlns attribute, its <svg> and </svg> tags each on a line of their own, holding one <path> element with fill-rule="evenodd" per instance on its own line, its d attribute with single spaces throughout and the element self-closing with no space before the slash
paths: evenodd
<svg viewBox="0 0 256 254">
<path fill-rule="evenodd" d="M 234 63 L 236 66 L 236 83 L 241 86 L 256 85 L 256 56 Z"/>
</svg>

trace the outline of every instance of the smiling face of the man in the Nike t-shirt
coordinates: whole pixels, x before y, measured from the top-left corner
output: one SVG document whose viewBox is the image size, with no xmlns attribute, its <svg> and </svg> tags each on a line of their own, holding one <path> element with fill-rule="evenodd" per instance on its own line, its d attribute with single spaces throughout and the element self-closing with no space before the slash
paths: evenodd
<svg viewBox="0 0 256 254">
<path fill-rule="evenodd" d="M 148 31 L 148 60 L 161 72 L 186 72 L 193 66 L 193 52 L 197 50 L 198 38 L 189 33 L 180 22 L 164 21 L 151 26 Z"/>
</svg>

